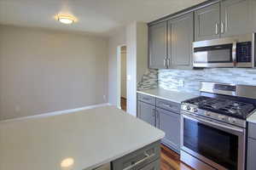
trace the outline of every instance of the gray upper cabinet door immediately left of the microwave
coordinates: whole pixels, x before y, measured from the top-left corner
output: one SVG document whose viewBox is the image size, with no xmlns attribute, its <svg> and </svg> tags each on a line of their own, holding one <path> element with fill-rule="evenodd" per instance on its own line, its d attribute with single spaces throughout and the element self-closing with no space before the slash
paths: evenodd
<svg viewBox="0 0 256 170">
<path fill-rule="evenodd" d="M 193 13 L 168 21 L 168 32 L 171 34 L 171 42 L 168 43 L 170 68 L 192 68 L 193 23 Z"/>
</svg>

